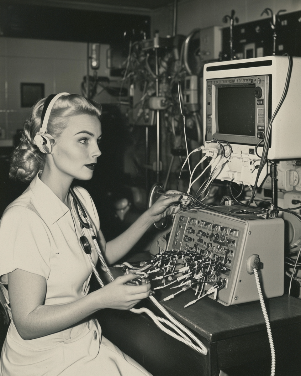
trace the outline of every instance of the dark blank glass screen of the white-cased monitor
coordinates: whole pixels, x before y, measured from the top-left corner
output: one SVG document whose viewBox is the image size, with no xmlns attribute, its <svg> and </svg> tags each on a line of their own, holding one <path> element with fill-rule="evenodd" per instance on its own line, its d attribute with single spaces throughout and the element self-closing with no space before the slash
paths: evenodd
<svg viewBox="0 0 301 376">
<path fill-rule="evenodd" d="M 218 133 L 255 136 L 255 85 L 217 89 Z"/>
</svg>

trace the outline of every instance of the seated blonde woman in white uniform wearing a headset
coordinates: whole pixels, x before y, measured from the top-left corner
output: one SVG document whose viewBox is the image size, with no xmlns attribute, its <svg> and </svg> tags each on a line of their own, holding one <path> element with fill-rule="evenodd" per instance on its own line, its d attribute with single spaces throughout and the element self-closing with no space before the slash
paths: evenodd
<svg viewBox="0 0 301 376">
<path fill-rule="evenodd" d="M 92 268 L 80 238 L 82 228 L 71 198 L 73 179 L 88 180 L 101 155 L 97 103 L 76 94 L 42 99 L 24 125 L 14 151 L 11 177 L 30 186 L 6 208 L 0 224 L 0 282 L 11 324 L 2 349 L 6 375 L 149 375 L 101 337 L 99 309 L 130 309 L 150 285 L 130 286 L 135 274 L 116 278 L 88 294 Z M 105 242 L 94 203 L 74 187 L 108 264 L 122 258 L 147 228 L 179 210 L 180 196 L 161 198 L 116 239 Z M 80 213 L 81 214 L 81 213 Z M 91 238 L 92 259 L 97 253 Z"/>
</svg>

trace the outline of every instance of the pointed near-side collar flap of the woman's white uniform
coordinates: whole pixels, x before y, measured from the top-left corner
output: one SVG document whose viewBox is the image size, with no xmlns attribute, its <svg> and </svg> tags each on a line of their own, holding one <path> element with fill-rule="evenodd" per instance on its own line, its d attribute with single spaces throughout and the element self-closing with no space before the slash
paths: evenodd
<svg viewBox="0 0 301 376">
<path fill-rule="evenodd" d="M 40 180 L 40 173 L 41 171 L 36 174 L 35 178 L 30 183 L 29 188 L 40 205 L 41 218 L 46 222 L 53 224 L 65 215 L 69 211 L 69 208 L 58 198 L 58 196 L 56 196 L 49 186 Z"/>
</svg>

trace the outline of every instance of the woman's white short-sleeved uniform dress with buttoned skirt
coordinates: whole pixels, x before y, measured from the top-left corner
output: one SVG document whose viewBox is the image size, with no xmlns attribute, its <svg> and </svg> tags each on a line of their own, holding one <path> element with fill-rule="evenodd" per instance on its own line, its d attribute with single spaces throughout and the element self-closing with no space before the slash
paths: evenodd
<svg viewBox="0 0 301 376">
<path fill-rule="evenodd" d="M 99 218 L 93 200 L 84 188 L 76 187 L 74 192 L 97 233 Z M 15 328 L 3 284 L 7 273 L 17 268 L 46 278 L 45 305 L 74 302 L 87 295 L 92 268 L 79 243 L 81 236 L 74 203 L 70 210 L 38 175 L 3 214 L 0 282 L 11 324 L 1 353 L 1 376 L 150 375 L 102 337 L 97 320 L 33 340 L 23 340 Z M 96 263 L 97 253 L 90 244 Z"/>
</svg>

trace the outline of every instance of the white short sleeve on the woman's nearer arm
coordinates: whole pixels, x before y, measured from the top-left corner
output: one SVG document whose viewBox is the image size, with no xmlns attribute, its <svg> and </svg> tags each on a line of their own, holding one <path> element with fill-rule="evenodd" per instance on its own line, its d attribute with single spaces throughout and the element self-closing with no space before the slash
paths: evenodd
<svg viewBox="0 0 301 376">
<path fill-rule="evenodd" d="M 46 225 L 38 214 L 23 206 L 10 207 L 0 221 L 0 276 L 15 269 L 46 279 L 50 274 Z"/>
</svg>

